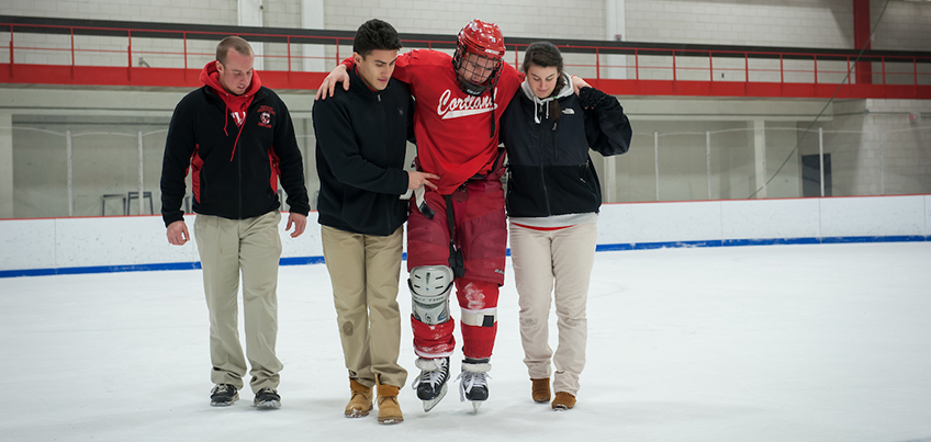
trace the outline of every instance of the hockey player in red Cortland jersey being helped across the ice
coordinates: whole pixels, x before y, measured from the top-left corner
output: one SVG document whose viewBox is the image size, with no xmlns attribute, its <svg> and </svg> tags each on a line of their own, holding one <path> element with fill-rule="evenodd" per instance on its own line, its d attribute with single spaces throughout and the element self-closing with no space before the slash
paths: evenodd
<svg viewBox="0 0 931 442">
<path fill-rule="evenodd" d="M 393 73 L 410 84 L 416 102 L 417 167 L 440 177 L 436 191 L 424 195 L 427 207 L 412 200 L 407 222 L 411 321 L 422 370 L 414 387 L 427 411 L 447 390 L 456 347 L 449 311 L 453 285 L 464 356 L 460 398 L 478 408 L 489 397 L 507 247 L 498 121 L 523 81 L 503 58 L 501 30 L 476 19 L 459 32 L 452 57 L 415 49 L 397 57 Z M 332 95 L 336 82 L 346 88 L 351 68 L 351 58 L 335 68 L 317 98 Z"/>
</svg>

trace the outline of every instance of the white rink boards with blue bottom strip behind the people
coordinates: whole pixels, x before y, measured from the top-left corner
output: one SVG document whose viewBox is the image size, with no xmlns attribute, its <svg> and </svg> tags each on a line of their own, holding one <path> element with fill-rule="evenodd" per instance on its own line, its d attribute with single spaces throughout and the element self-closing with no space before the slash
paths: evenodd
<svg viewBox="0 0 931 442">
<path fill-rule="evenodd" d="M 192 235 L 194 218 L 184 218 Z M 323 248 L 317 214 L 311 213 L 299 238 L 284 230 L 287 223 L 284 213 L 282 258 L 318 262 Z M 931 195 L 605 204 L 598 217 L 598 245 L 618 248 L 929 236 Z M 169 270 L 199 261 L 193 240 L 181 247 L 168 243 L 160 216 L 3 219 L 0 246 L 0 276 L 60 269 L 155 270 L 146 268 L 153 264 Z M 38 273 L 29 273 L 32 270 Z"/>
</svg>

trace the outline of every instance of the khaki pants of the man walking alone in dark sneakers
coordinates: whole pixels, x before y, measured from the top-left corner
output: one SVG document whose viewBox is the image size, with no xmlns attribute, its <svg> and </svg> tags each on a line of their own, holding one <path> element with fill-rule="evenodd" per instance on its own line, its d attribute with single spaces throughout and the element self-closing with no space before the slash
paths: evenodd
<svg viewBox="0 0 931 442">
<path fill-rule="evenodd" d="M 278 336 L 278 211 L 248 219 L 198 215 L 194 239 L 203 268 L 204 293 L 210 310 L 210 360 L 214 384 L 243 388 L 246 361 L 239 343 L 239 275 L 243 276 L 243 316 L 246 354 L 251 366 L 253 392 L 278 388 L 283 369 L 274 355 Z"/>
</svg>

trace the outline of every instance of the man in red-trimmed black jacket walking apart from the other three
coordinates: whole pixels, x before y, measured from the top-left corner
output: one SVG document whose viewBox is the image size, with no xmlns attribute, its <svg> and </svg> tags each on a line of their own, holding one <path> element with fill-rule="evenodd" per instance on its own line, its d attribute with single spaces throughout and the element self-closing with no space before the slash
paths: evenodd
<svg viewBox="0 0 931 442">
<path fill-rule="evenodd" d="M 211 381 L 216 384 L 211 405 L 236 401 L 246 375 L 237 331 L 242 273 L 254 404 L 278 408 L 279 178 L 291 206 L 285 229 L 294 226 L 292 238 L 304 233 L 310 204 L 291 115 L 278 95 L 261 86 L 254 59 L 245 39 L 224 38 L 216 60 L 201 72 L 205 86 L 175 109 L 161 169 L 161 216 L 168 242 L 184 245 L 190 234 L 180 207 L 190 168 L 198 214 L 194 239 L 210 311 Z"/>
</svg>

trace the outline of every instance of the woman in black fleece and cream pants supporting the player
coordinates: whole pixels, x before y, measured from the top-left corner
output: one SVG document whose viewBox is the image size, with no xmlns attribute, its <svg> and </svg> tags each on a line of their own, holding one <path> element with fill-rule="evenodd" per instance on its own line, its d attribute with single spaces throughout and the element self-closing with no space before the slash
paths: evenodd
<svg viewBox="0 0 931 442">
<path fill-rule="evenodd" d="M 565 410 L 575 405 L 585 366 L 585 305 L 602 204 L 588 148 L 603 156 L 624 154 L 632 133 L 614 97 L 585 87 L 573 92 L 552 44 L 531 44 L 523 70 L 521 91 L 501 118 L 520 338 L 534 400 L 549 403 L 554 364 L 552 408 Z M 548 344 L 552 298 L 559 317 L 556 353 Z"/>
</svg>

